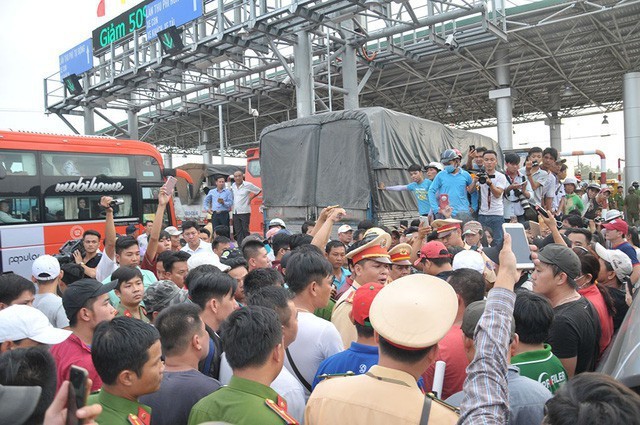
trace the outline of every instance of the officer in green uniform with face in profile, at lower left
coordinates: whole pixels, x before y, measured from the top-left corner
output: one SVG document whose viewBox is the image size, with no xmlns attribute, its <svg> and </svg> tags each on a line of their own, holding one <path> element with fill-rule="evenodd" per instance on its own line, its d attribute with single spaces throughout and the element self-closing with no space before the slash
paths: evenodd
<svg viewBox="0 0 640 425">
<path fill-rule="evenodd" d="M 100 425 L 150 425 L 151 408 L 138 397 L 160 389 L 160 334 L 131 317 L 102 322 L 93 334 L 91 357 L 103 387 L 88 403 L 102 406 Z"/>
</svg>

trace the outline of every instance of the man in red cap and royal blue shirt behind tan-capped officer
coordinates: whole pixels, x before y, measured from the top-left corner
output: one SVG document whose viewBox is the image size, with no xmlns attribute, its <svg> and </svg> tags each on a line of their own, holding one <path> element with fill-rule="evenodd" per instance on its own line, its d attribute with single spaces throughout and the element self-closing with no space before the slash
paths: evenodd
<svg viewBox="0 0 640 425">
<path fill-rule="evenodd" d="M 352 293 L 353 309 L 350 316 L 356 326 L 358 339 L 352 342 L 347 350 L 334 354 L 320 363 L 313 379 L 313 388 L 324 379 L 322 375 L 347 372 L 362 375 L 371 366 L 378 364 L 378 345 L 373 336 L 373 327 L 369 322 L 369 308 L 382 288 L 384 286 L 380 283 L 366 283 Z"/>
</svg>

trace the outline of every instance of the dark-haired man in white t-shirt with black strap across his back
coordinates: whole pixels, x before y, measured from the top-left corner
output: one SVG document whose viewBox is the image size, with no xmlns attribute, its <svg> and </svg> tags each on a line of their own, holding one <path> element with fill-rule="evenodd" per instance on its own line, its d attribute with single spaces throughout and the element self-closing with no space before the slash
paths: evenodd
<svg viewBox="0 0 640 425">
<path fill-rule="evenodd" d="M 286 350 L 285 367 L 304 386 L 306 398 L 320 363 L 343 350 L 333 323 L 313 314 L 329 303 L 332 282 L 331 263 L 319 250 L 303 248 L 289 258 L 287 283 L 298 309 L 298 336 Z"/>
</svg>

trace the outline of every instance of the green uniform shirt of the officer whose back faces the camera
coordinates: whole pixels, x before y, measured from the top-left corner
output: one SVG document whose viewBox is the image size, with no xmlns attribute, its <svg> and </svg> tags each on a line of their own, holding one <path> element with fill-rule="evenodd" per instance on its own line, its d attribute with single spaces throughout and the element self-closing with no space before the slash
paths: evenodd
<svg viewBox="0 0 640 425">
<path fill-rule="evenodd" d="M 196 403 L 189 415 L 189 425 L 219 421 L 234 425 L 282 425 L 284 420 L 266 405 L 278 401 L 278 393 L 255 381 L 231 377 L 229 385 Z"/>
</svg>

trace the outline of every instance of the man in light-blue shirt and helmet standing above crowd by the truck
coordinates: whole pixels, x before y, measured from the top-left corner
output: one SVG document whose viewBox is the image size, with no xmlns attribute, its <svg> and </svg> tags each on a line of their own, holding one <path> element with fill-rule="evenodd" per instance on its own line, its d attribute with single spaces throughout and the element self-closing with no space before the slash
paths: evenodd
<svg viewBox="0 0 640 425">
<path fill-rule="evenodd" d="M 455 149 L 447 149 L 442 153 L 440 162 L 444 165 L 444 171 L 440 171 L 436 178 L 433 179 L 429 187 L 429 203 L 431 210 L 437 212 L 437 218 L 447 218 L 453 216 L 464 222 L 471 220 L 471 213 L 467 193 L 473 193 L 476 190 L 474 180 L 469 173 L 460 168 L 462 155 Z M 448 208 L 440 207 L 440 196 L 448 195 Z"/>
</svg>

